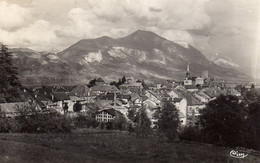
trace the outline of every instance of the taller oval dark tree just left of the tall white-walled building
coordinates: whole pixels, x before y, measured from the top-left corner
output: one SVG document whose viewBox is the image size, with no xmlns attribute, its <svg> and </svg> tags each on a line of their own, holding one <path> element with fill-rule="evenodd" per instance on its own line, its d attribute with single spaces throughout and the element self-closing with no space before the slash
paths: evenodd
<svg viewBox="0 0 260 163">
<path fill-rule="evenodd" d="M 169 140 L 174 140 L 178 133 L 179 124 L 179 113 L 175 105 L 165 103 L 159 113 L 158 131 Z"/>
</svg>

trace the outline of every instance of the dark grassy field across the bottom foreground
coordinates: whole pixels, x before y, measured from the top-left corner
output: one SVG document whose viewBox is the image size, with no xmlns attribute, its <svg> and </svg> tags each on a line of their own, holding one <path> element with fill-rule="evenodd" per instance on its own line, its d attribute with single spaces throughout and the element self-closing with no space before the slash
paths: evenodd
<svg viewBox="0 0 260 163">
<path fill-rule="evenodd" d="M 0 134 L 0 162 L 260 162 L 260 155 L 232 158 L 231 150 L 120 132 Z"/>
</svg>

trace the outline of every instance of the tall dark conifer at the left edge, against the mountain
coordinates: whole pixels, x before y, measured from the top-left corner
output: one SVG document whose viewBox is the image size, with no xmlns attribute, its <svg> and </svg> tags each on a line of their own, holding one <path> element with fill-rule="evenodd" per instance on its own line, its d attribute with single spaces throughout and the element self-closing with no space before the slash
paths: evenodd
<svg viewBox="0 0 260 163">
<path fill-rule="evenodd" d="M 0 72 L 0 98 L 6 102 L 20 100 L 18 91 L 21 83 L 17 77 L 17 68 L 13 66 L 12 53 L 3 44 L 0 45 Z"/>
</svg>

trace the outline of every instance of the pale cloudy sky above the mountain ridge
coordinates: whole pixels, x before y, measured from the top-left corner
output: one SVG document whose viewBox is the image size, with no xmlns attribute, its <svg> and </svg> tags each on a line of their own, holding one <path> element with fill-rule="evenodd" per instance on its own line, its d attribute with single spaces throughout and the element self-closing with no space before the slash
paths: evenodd
<svg viewBox="0 0 260 163">
<path fill-rule="evenodd" d="M 83 38 L 142 29 L 260 77 L 259 0 L 0 0 L 0 20 L 0 42 L 10 47 L 57 52 Z"/>
</svg>

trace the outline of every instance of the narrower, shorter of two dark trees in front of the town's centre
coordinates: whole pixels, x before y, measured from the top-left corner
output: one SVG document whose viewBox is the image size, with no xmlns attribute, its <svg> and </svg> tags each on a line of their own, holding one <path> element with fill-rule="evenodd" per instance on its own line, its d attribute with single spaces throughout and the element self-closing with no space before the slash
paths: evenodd
<svg viewBox="0 0 260 163">
<path fill-rule="evenodd" d="M 140 108 L 136 114 L 136 135 L 137 137 L 146 138 L 151 132 L 151 121 L 147 116 L 145 108 Z"/>
</svg>

